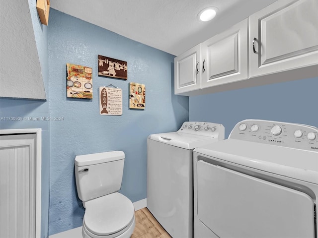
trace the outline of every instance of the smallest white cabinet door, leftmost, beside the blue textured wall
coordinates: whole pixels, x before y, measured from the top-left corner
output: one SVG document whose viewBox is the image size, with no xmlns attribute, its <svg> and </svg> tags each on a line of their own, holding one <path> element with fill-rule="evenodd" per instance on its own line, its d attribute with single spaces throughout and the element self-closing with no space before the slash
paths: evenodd
<svg viewBox="0 0 318 238">
<path fill-rule="evenodd" d="M 201 44 L 174 58 L 174 93 L 201 88 Z"/>
</svg>

